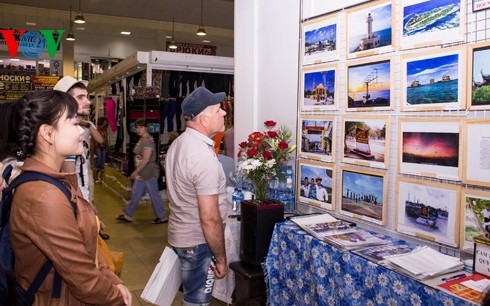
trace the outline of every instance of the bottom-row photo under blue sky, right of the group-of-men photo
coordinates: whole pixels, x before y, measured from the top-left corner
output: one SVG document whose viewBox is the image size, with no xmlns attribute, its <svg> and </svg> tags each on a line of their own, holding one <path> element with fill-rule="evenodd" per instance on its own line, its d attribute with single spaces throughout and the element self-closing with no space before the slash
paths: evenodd
<svg viewBox="0 0 490 306">
<path fill-rule="evenodd" d="M 384 177 L 343 170 L 341 210 L 383 220 Z"/>
</svg>

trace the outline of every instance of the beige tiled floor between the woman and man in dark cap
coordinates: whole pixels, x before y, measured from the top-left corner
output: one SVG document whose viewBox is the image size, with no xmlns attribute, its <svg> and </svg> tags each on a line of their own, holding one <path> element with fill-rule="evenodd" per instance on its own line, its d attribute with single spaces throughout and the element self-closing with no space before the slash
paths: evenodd
<svg viewBox="0 0 490 306">
<path fill-rule="evenodd" d="M 165 198 L 165 195 L 162 196 Z M 122 279 L 133 293 L 133 305 L 152 305 L 140 298 L 141 292 L 150 278 L 157 260 L 167 244 L 167 224 L 151 224 L 155 219 L 151 203 L 142 202 L 136 210 L 133 222 L 122 223 L 116 220 L 126 202 L 103 187 L 95 185 L 95 206 L 100 219 L 106 225 L 106 240 L 111 250 L 124 252 Z M 168 203 L 166 202 L 168 212 Z M 182 293 L 178 292 L 172 306 L 182 304 Z M 211 305 L 224 306 L 225 303 L 213 299 Z"/>
</svg>

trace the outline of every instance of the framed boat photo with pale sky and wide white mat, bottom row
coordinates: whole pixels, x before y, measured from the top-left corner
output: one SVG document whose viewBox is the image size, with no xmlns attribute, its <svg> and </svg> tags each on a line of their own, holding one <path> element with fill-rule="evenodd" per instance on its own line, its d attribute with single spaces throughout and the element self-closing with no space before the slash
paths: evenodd
<svg viewBox="0 0 490 306">
<path fill-rule="evenodd" d="M 401 176 L 397 185 L 396 231 L 457 247 L 461 188 Z"/>
</svg>

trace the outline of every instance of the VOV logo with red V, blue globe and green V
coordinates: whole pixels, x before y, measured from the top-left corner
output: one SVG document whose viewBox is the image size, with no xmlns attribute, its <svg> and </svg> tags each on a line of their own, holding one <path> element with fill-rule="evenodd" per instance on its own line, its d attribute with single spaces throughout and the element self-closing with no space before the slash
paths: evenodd
<svg viewBox="0 0 490 306">
<path fill-rule="evenodd" d="M 65 30 L 0 30 L 12 58 L 17 56 L 19 50 L 27 58 L 38 58 L 46 49 L 53 58 L 64 32 Z"/>
</svg>

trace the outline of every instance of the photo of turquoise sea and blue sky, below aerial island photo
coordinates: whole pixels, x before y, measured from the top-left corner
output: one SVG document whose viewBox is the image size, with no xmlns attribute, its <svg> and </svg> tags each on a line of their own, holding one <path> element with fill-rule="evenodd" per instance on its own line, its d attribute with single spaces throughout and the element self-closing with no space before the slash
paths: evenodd
<svg viewBox="0 0 490 306">
<path fill-rule="evenodd" d="M 459 54 L 407 62 L 407 105 L 458 103 Z"/>
</svg>

